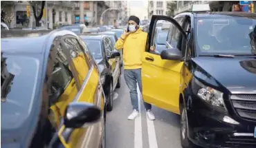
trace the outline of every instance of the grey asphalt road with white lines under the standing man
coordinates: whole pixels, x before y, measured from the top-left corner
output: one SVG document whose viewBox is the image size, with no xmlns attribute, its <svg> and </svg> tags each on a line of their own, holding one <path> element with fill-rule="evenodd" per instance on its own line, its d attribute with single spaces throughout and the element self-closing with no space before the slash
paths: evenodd
<svg viewBox="0 0 256 148">
<path fill-rule="evenodd" d="M 127 120 L 132 107 L 123 76 L 115 92 L 113 110 L 107 113 L 107 148 L 181 148 L 178 115 L 153 107 L 156 120 L 147 120 L 140 101 L 141 116 Z"/>
</svg>

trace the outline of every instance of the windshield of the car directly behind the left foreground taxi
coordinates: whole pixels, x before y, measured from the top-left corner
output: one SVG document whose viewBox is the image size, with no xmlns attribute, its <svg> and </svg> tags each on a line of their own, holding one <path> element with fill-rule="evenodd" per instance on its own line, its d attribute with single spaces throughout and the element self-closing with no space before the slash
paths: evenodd
<svg viewBox="0 0 256 148">
<path fill-rule="evenodd" d="M 86 43 L 87 47 L 89 48 L 94 59 L 102 59 L 102 50 L 101 50 L 100 41 L 85 39 L 84 42 Z"/>
</svg>

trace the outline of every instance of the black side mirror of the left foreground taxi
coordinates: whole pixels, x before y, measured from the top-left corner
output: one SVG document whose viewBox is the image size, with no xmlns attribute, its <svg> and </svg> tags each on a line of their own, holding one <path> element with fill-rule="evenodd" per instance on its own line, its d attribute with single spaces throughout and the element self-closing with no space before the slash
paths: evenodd
<svg viewBox="0 0 256 148">
<path fill-rule="evenodd" d="M 102 116 L 98 107 L 90 103 L 70 103 L 64 114 L 64 125 L 67 128 L 80 128 L 84 124 L 97 123 Z"/>
</svg>

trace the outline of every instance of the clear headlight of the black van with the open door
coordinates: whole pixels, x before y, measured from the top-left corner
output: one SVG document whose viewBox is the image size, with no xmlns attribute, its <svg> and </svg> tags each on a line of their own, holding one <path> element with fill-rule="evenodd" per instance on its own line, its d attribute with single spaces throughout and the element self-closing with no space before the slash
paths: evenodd
<svg viewBox="0 0 256 148">
<path fill-rule="evenodd" d="M 197 96 L 199 96 L 199 98 L 214 107 L 226 110 L 222 92 L 219 92 L 212 87 L 203 85 L 203 83 L 199 82 L 196 79 L 194 79 L 194 81 L 200 87 L 197 92 Z"/>
</svg>

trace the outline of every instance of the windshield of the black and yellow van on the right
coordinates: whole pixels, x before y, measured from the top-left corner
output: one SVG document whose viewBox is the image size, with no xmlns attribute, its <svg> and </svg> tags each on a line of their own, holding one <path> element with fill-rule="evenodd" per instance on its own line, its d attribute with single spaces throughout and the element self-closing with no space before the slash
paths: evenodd
<svg viewBox="0 0 256 148">
<path fill-rule="evenodd" d="M 246 17 L 199 18 L 195 21 L 196 49 L 200 54 L 253 54 L 249 34 L 255 19 Z"/>
</svg>

